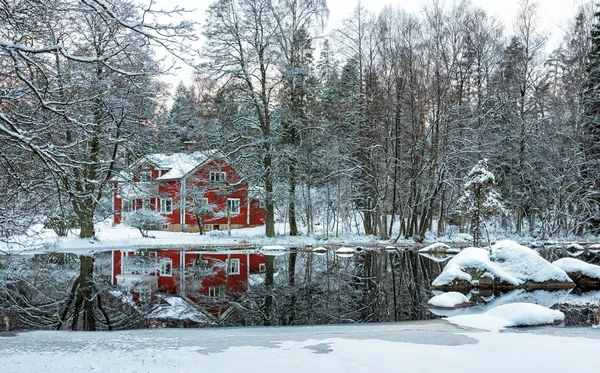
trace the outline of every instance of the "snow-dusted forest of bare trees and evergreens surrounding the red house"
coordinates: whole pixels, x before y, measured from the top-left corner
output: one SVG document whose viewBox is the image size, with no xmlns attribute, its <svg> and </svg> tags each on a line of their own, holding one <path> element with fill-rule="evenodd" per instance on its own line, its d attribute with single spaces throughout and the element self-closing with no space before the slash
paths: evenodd
<svg viewBox="0 0 600 373">
<path fill-rule="evenodd" d="M 202 24 L 186 16 L 132 0 L 0 1 L 0 240 L 36 223 L 93 237 L 115 174 L 200 149 L 223 150 L 260 188 L 268 237 L 276 221 L 290 235 L 416 241 L 482 224 L 600 232 L 591 2 L 565 14 L 555 47 L 531 0 L 513 25 L 469 1 L 418 14 L 358 2 L 334 30 L 325 0 L 217 0 Z M 195 72 L 171 95 L 175 60 Z"/>
</svg>

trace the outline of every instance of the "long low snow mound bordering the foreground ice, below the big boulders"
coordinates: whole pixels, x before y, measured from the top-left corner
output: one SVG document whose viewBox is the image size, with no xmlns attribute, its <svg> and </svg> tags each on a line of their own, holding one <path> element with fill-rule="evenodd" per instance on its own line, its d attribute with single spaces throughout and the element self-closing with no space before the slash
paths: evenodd
<svg viewBox="0 0 600 373">
<path fill-rule="evenodd" d="M 500 330 L 510 326 L 538 326 L 562 322 L 565 315 L 560 311 L 531 303 L 511 303 L 492 308 L 478 315 L 448 317 L 456 325 L 470 328 Z"/>
</svg>

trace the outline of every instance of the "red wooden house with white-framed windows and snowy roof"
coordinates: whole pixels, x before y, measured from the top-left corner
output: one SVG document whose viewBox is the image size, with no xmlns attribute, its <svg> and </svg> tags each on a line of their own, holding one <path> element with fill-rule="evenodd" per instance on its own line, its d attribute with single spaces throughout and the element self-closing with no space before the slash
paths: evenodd
<svg viewBox="0 0 600 373">
<path fill-rule="evenodd" d="M 201 215 L 204 230 L 263 225 L 264 209 L 258 196 L 220 150 L 194 153 L 149 154 L 113 179 L 113 224 L 127 220 L 138 209 L 160 211 L 167 224 L 162 230 L 197 232 L 193 206 L 198 198 L 213 213 Z"/>
</svg>

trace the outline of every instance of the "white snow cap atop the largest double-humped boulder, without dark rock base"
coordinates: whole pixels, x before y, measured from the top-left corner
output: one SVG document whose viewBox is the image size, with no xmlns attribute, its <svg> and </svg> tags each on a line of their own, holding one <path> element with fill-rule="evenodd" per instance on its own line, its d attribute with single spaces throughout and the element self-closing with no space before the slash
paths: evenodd
<svg viewBox="0 0 600 373">
<path fill-rule="evenodd" d="M 514 241 L 500 241 L 488 250 L 469 247 L 452 258 L 444 271 L 433 281 L 433 286 L 452 285 L 454 280 L 465 280 L 474 284 L 471 272 L 480 273 L 482 278 L 499 280 L 519 286 L 525 282 L 547 281 L 571 282 L 565 271 L 543 259 L 536 251 Z"/>
</svg>

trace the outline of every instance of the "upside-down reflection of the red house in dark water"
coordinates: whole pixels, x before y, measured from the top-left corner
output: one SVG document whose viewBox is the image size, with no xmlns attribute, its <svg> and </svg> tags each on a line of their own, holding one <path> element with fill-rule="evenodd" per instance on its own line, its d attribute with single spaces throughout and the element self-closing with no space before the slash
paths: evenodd
<svg viewBox="0 0 600 373">
<path fill-rule="evenodd" d="M 251 274 L 265 272 L 266 257 L 253 250 L 113 250 L 111 282 L 138 304 L 157 294 L 178 295 L 210 318 L 221 321 L 232 302 L 248 290 Z"/>
</svg>

